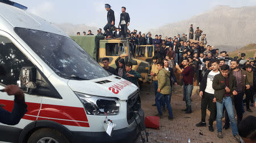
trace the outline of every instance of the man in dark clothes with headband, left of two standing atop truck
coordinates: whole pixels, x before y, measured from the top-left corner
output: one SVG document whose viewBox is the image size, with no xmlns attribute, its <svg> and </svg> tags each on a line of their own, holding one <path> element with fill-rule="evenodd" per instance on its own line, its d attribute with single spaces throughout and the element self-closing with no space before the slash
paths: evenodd
<svg viewBox="0 0 256 143">
<path fill-rule="evenodd" d="M 106 36 L 110 38 L 110 37 L 113 37 L 112 27 L 115 25 L 115 14 L 109 4 L 105 4 L 105 9 L 106 11 L 108 11 L 108 14 L 107 14 L 108 23 L 105 25 L 104 31 L 106 32 Z"/>
</svg>

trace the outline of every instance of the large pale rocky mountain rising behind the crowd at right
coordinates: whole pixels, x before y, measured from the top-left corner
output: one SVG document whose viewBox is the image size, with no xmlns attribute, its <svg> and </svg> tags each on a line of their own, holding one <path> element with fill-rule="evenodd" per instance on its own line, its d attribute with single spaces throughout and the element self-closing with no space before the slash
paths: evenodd
<svg viewBox="0 0 256 143">
<path fill-rule="evenodd" d="M 196 27 L 199 27 L 207 34 L 209 45 L 221 50 L 233 51 L 248 43 L 256 43 L 256 6 L 216 6 L 190 19 L 166 24 L 150 31 L 152 36 L 162 34 L 174 37 L 177 34 L 188 34 L 190 24 L 193 24 L 194 32 Z"/>
</svg>

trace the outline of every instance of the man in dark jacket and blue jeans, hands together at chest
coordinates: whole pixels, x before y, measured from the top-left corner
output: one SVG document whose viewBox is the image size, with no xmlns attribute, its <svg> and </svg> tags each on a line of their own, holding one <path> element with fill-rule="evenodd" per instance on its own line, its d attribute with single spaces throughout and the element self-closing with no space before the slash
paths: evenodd
<svg viewBox="0 0 256 143">
<path fill-rule="evenodd" d="M 217 106 L 217 137 L 223 138 L 222 135 L 222 114 L 223 107 L 226 107 L 228 116 L 231 122 L 232 133 L 234 138 L 240 142 L 240 136 L 237 131 L 237 122 L 234 116 L 232 96 L 236 96 L 236 77 L 229 73 L 230 68 L 227 64 L 221 66 L 221 73 L 214 76 L 212 88 L 214 89 L 213 102 L 216 102 Z"/>
</svg>

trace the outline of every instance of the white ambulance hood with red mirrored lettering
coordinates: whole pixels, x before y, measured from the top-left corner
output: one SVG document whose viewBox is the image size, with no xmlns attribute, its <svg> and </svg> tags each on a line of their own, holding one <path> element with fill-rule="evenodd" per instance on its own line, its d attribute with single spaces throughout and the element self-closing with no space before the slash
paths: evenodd
<svg viewBox="0 0 256 143">
<path fill-rule="evenodd" d="M 121 100 L 126 100 L 138 91 L 136 85 L 115 75 L 94 80 L 69 80 L 68 86 L 74 92 L 92 96 L 117 97 Z"/>
</svg>

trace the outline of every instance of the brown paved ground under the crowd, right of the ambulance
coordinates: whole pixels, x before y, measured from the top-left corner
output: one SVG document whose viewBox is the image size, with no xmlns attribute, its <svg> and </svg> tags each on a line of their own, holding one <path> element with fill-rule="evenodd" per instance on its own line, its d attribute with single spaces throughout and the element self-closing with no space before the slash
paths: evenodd
<svg viewBox="0 0 256 143">
<path fill-rule="evenodd" d="M 197 88 L 197 86 L 195 86 Z M 160 129 L 146 128 L 149 133 L 148 142 L 236 142 L 232 135 L 231 127 L 228 130 L 223 130 L 224 138 L 217 137 L 216 122 L 213 122 L 214 132 L 208 129 L 209 111 L 207 111 L 207 127 L 196 127 L 196 124 L 201 121 L 201 98 L 197 92 L 192 94 L 192 114 L 185 114 L 181 109 L 185 109 L 185 102 L 183 99 L 182 86 L 176 86 L 175 91 L 172 91 L 171 106 L 174 115 L 174 120 L 168 120 L 168 111 L 163 112 L 163 118 L 160 119 Z M 141 90 L 142 109 L 145 116 L 154 116 L 157 114 L 155 103 L 154 89 L 151 85 L 143 86 Z M 245 106 L 244 106 L 245 107 Z M 246 107 L 245 107 L 246 108 Z M 253 112 L 245 111 L 243 118 L 249 115 L 256 115 L 256 108 L 250 107 Z M 236 112 L 236 111 L 235 111 Z M 224 123 L 222 123 L 222 126 Z M 144 132 L 142 132 L 143 137 Z M 142 142 L 141 137 L 138 138 L 136 143 Z"/>
</svg>

